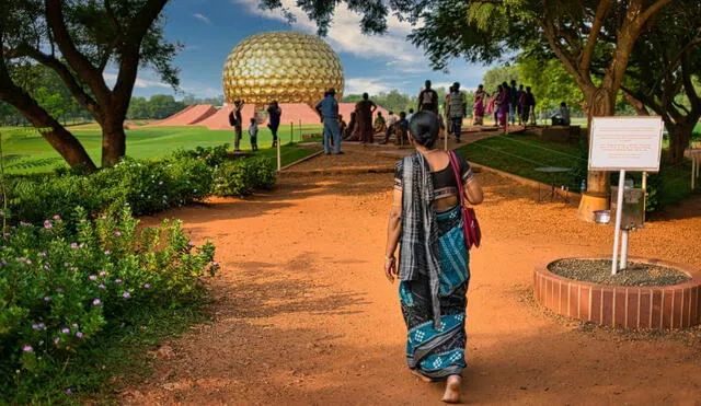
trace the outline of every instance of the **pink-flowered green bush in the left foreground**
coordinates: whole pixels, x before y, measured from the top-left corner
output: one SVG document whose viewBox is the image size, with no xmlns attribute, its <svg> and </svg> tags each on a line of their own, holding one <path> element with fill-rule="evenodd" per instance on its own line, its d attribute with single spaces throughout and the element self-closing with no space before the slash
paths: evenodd
<svg viewBox="0 0 701 406">
<path fill-rule="evenodd" d="M 50 380 L 137 310 L 200 301 L 200 278 L 218 269 L 214 245 L 195 246 L 180 221 L 137 230 L 126 207 L 73 218 L 21 222 L 0 242 L 0 403 Z"/>
</svg>

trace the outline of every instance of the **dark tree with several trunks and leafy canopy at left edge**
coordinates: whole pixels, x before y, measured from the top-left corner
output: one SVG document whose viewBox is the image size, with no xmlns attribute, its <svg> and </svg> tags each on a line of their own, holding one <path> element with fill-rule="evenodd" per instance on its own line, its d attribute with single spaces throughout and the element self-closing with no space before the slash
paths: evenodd
<svg viewBox="0 0 701 406">
<path fill-rule="evenodd" d="M 177 85 L 171 66 L 179 45 L 163 37 L 168 0 L 7 0 L 0 16 L 0 100 L 12 104 L 71 165 L 95 167 L 80 142 L 9 76 L 16 60 L 53 69 L 71 95 L 102 127 L 102 165 L 126 153 L 126 118 L 139 66 L 150 65 Z M 113 88 L 105 69 L 117 70 Z"/>
</svg>

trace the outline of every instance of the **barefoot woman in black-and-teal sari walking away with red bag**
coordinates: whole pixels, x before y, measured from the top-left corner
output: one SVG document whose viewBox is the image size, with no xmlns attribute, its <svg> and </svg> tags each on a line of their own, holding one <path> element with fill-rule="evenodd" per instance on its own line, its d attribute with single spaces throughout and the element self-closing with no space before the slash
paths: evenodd
<svg viewBox="0 0 701 406">
<path fill-rule="evenodd" d="M 462 231 L 460 200 L 482 202 L 482 188 L 459 156 L 458 184 L 447 152 L 434 149 L 438 117 L 414 115 L 410 156 L 397 163 L 390 210 L 384 274 L 399 279 L 399 297 L 407 328 L 406 361 L 425 381 L 446 380 L 443 401 L 460 401 L 464 349 L 469 252 Z M 399 264 L 394 256 L 401 244 Z"/>
</svg>

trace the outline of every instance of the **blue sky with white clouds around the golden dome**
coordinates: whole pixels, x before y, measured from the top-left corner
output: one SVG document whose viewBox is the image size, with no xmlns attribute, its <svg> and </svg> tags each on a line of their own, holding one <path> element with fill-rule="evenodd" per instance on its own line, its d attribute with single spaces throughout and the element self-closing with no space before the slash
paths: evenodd
<svg viewBox="0 0 701 406">
<path fill-rule="evenodd" d="M 162 83 L 153 71 L 141 68 L 135 96 L 185 94 L 214 97 L 222 94 L 221 69 L 229 53 L 245 37 L 267 31 L 300 31 L 315 34 L 317 26 L 295 5 L 295 0 L 281 0 L 297 21 L 289 24 L 280 10 L 261 10 L 258 0 L 182 0 L 166 7 L 165 36 L 184 45 L 175 57 L 181 86 L 175 92 Z M 323 39 L 336 51 L 345 73 L 345 94 L 368 92 L 378 94 L 397 89 L 414 94 L 430 79 L 434 88 L 448 88 L 455 81 L 463 89 L 476 88 L 489 69 L 453 60 L 446 74 L 433 71 L 428 58 L 415 48 L 406 35 L 411 25 L 391 18 L 388 33 L 366 36 L 360 33 L 360 16 L 342 3 L 334 14 L 329 35 Z M 116 71 L 105 78 L 114 81 Z"/>
</svg>

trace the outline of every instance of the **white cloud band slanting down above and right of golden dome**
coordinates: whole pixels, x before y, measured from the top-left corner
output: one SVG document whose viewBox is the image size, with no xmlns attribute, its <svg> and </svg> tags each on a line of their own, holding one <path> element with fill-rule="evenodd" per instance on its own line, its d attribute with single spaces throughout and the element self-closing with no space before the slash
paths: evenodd
<svg viewBox="0 0 701 406">
<path fill-rule="evenodd" d="M 243 5 L 252 14 L 287 22 L 280 10 L 260 9 L 258 0 L 230 1 L 234 4 Z M 289 10 L 297 19 L 292 24 L 295 28 L 300 28 L 310 34 L 317 33 L 317 24 L 309 20 L 307 14 L 297 7 L 296 0 L 281 0 L 281 3 L 283 8 Z M 406 35 L 412 31 L 410 23 L 399 21 L 395 16 L 390 16 L 387 34 L 369 36 L 360 32 L 360 19 L 361 16 L 348 10 L 345 3 L 338 4 L 329 34 L 324 39 L 337 51 L 353 54 L 366 59 L 387 60 L 388 63 L 393 63 L 392 67 L 397 71 L 406 73 L 429 70 L 422 51 L 406 40 Z"/>
</svg>

